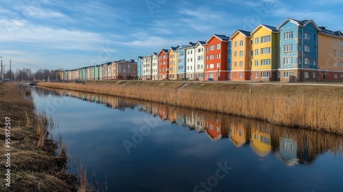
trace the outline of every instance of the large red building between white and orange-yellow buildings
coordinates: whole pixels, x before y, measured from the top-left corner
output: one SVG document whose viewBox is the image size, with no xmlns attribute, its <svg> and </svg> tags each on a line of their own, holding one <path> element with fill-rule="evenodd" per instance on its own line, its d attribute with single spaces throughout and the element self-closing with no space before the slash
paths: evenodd
<svg viewBox="0 0 343 192">
<path fill-rule="evenodd" d="M 228 80 L 228 36 L 213 34 L 206 41 L 205 80 Z"/>
</svg>

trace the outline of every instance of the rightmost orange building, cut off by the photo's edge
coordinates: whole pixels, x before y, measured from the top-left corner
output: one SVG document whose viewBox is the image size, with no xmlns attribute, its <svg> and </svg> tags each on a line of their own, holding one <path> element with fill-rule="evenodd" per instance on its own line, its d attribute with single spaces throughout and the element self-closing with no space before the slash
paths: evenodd
<svg viewBox="0 0 343 192">
<path fill-rule="evenodd" d="M 318 81 L 343 80 L 343 34 L 320 27 L 318 34 Z"/>
</svg>

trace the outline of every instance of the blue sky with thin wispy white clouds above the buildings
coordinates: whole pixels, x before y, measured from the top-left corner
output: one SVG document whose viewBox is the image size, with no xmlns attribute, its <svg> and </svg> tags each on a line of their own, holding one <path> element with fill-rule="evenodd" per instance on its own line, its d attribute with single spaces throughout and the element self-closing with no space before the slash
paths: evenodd
<svg viewBox="0 0 343 192">
<path fill-rule="evenodd" d="M 342 6 L 343 0 L 2 0 L 0 56 L 3 64 L 12 60 L 12 70 L 77 69 L 261 23 L 277 27 L 289 17 L 343 31 Z"/>
</svg>

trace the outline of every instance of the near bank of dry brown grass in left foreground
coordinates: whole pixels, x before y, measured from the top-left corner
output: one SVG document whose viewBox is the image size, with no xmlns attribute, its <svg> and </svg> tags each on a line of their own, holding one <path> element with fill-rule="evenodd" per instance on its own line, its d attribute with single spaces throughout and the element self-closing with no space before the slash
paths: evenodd
<svg viewBox="0 0 343 192">
<path fill-rule="evenodd" d="M 54 125 L 46 115 L 34 113 L 30 91 L 25 98 L 10 82 L 0 84 L 0 90 L 0 150 L 11 149 L 10 167 L 5 167 L 9 158 L 0 157 L 0 191 L 78 191 L 78 178 L 64 170 L 66 146 L 60 146 L 56 154 L 59 144 L 49 139 L 49 128 Z M 5 117 L 10 118 L 10 143 L 5 143 Z M 10 187 L 5 185 L 8 169 Z"/>
</svg>

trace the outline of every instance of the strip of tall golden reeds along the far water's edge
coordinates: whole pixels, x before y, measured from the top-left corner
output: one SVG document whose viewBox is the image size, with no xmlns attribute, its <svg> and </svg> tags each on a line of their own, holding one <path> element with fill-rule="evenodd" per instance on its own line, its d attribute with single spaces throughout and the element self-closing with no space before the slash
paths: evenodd
<svg viewBox="0 0 343 192">
<path fill-rule="evenodd" d="M 134 86 L 126 84 L 86 84 L 44 82 L 40 86 L 115 95 L 154 101 L 239 117 L 261 119 L 276 125 L 308 128 L 343 134 L 342 95 L 323 93 L 284 95 L 281 93 L 248 94 L 240 91 Z"/>
</svg>

